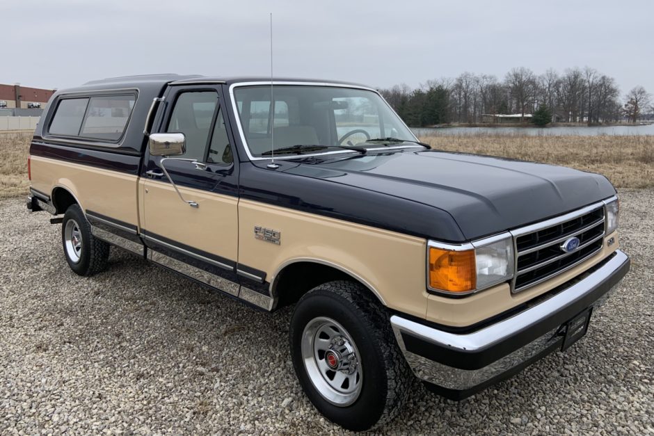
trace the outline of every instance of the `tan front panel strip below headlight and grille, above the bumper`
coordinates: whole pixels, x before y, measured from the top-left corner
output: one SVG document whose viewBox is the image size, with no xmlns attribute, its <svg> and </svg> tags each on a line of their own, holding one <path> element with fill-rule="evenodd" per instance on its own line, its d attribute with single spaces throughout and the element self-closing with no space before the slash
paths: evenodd
<svg viewBox="0 0 654 436">
<path fill-rule="evenodd" d="M 614 238 L 614 243 L 609 247 L 607 241 L 611 238 Z M 512 294 L 509 284 L 500 284 L 465 298 L 447 298 L 430 294 L 426 319 L 427 321 L 454 327 L 465 327 L 479 323 L 564 284 L 591 268 L 591 266 L 598 264 L 617 250 L 619 245 L 618 234 L 616 232 L 609 234 L 605 236 L 603 248 L 598 254 L 547 282 L 519 293 Z"/>
</svg>

